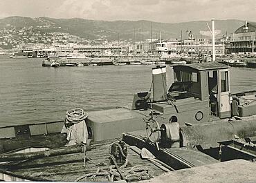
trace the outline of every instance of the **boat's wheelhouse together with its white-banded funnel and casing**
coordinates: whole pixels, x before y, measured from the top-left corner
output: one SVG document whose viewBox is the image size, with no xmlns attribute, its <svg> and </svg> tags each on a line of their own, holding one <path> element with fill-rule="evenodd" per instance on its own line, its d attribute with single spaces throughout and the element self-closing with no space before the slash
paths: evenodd
<svg viewBox="0 0 256 183">
<path fill-rule="evenodd" d="M 172 68 L 174 81 L 167 91 L 165 70 L 153 68 L 152 110 L 164 115 L 163 122 L 169 117 L 180 124 L 201 124 L 210 118 L 230 117 L 228 66 L 205 62 Z M 156 72 L 159 69 L 162 72 Z"/>
</svg>

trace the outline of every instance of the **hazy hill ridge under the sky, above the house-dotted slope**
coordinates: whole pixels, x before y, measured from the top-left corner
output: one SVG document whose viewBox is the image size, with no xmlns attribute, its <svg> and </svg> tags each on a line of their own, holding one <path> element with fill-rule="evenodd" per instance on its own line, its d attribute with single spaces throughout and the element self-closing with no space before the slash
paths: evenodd
<svg viewBox="0 0 256 183">
<path fill-rule="evenodd" d="M 71 35 L 89 39 L 106 38 L 109 40 L 136 39 L 136 41 L 150 38 L 151 25 L 152 37 L 158 38 L 159 32 L 163 39 L 180 38 L 181 30 L 183 39 L 187 38 L 186 30 L 192 30 L 194 37 L 202 37 L 200 30 L 208 30 L 206 23 L 211 26 L 211 21 L 190 21 L 183 23 L 158 23 L 152 21 L 94 21 L 87 19 L 53 19 L 48 17 L 7 17 L 0 19 L 0 29 L 15 26 L 17 28 L 33 26 L 35 30 L 44 32 L 68 32 Z M 221 35 L 230 35 L 239 26 L 243 25 L 241 20 L 216 20 L 215 28 L 221 30 Z M 135 34 L 134 34 L 135 33 Z"/>
</svg>

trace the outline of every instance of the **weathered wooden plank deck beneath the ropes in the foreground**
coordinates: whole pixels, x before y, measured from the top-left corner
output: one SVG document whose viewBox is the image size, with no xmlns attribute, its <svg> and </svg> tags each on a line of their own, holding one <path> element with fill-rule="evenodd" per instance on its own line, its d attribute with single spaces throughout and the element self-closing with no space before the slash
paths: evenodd
<svg viewBox="0 0 256 183">
<path fill-rule="evenodd" d="M 24 180 L 75 182 L 77 177 L 86 173 L 95 173 L 98 170 L 98 167 L 104 171 L 109 171 L 109 166 L 111 166 L 109 160 L 109 148 L 112 142 L 116 142 L 116 140 L 109 140 L 102 144 L 102 146 L 97 146 L 97 148 L 92 148 L 91 151 L 87 151 L 85 166 L 84 153 L 44 157 L 37 160 L 26 160 L 21 162 L 9 162 L 8 164 L 1 166 L 0 180 L 1 172 L 9 172 L 12 173 L 12 176 L 24 177 Z M 152 162 L 141 159 L 140 155 L 131 150 L 131 148 L 128 148 L 127 158 L 129 160 L 127 168 L 138 165 L 149 168 L 149 175 L 151 177 L 156 177 L 165 172 Z M 86 180 L 86 182 L 91 181 L 108 182 L 109 180 L 107 179 L 107 176 L 97 175 L 95 179 L 88 178 Z"/>
</svg>

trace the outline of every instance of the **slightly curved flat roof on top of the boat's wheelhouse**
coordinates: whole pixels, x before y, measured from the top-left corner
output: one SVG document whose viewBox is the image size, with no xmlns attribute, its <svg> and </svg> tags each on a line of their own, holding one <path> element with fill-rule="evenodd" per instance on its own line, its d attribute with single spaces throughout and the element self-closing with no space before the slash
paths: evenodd
<svg viewBox="0 0 256 183">
<path fill-rule="evenodd" d="M 203 62 L 203 63 L 194 63 L 194 64 L 186 64 L 186 65 L 181 65 L 181 66 L 174 66 L 174 68 L 192 68 L 197 71 L 202 71 L 202 70 L 217 70 L 217 69 L 225 69 L 228 68 L 227 65 L 221 64 L 218 62 Z"/>
</svg>

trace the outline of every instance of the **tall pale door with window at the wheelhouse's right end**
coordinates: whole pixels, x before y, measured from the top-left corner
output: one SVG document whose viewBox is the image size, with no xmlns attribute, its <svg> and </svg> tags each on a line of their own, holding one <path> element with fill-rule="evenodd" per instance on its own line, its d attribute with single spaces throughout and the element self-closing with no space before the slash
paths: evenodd
<svg viewBox="0 0 256 183">
<path fill-rule="evenodd" d="M 230 117 L 230 79 L 228 69 L 218 70 L 219 117 Z"/>
</svg>

